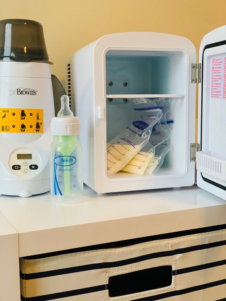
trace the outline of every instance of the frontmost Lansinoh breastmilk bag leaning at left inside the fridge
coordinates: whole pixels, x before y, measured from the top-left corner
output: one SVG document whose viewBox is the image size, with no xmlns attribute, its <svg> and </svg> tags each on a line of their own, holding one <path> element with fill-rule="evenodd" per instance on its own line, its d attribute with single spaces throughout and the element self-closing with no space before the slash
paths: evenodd
<svg viewBox="0 0 226 301">
<path fill-rule="evenodd" d="M 147 143 L 152 127 L 162 117 L 162 111 L 154 100 L 139 98 L 142 103 L 133 101 L 134 119 L 115 138 L 107 142 L 107 176 L 120 171 Z M 128 110 L 129 114 L 129 110 Z"/>
</svg>

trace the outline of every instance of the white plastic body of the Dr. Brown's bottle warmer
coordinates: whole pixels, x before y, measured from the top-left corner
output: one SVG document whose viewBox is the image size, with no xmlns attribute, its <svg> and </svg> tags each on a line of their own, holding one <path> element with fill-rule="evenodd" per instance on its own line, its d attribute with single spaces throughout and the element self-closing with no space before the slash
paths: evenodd
<svg viewBox="0 0 226 301">
<path fill-rule="evenodd" d="M 35 89 L 37 93 L 12 93 L 21 87 Z M 54 116 L 49 64 L 0 62 L 0 108 L 42 109 L 44 114 L 43 133 L 0 133 L 0 194 L 30 196 L 49 191 L 49 146 L 52 142 L 50 122 Z M 34 162 L 32 159 L 28 160 L 29 165 L 40 162 L 36 172 L 31 171 L 21 177 L 11 170 L 11 155 L 18 150 L 22 153 L 23 150 L 27 150 L 27 153 L 30 150 L 37 155 L 33 156 Z M 14 157 L 14 162 L 15 160 Z"/>
</svg>

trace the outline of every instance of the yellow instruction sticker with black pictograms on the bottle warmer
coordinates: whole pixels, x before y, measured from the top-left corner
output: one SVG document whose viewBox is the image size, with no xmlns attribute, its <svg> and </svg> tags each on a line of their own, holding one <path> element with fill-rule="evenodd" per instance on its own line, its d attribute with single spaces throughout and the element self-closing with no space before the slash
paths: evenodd
<svg viewBox="0 0 226 301">
<path fill-rule="evenodd" d="M 43 133 L 43 110 L 1 108 L 0 133 Z"/>
</svg>

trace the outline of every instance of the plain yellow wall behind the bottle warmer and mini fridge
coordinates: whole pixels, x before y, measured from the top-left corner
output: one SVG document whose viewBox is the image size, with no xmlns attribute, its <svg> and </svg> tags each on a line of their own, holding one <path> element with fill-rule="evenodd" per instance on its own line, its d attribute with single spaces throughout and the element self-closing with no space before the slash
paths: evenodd
<svg viewBox="0 0 226 301">
<path fill-rule="evenodd" d="M 225 0 L 2 0 L 0 19 L 43 25 L 52 73 L 64 84 L 66 58 L 105 34 L 171 33 L 189 38 L 198 49 L 206 33 L 226 25 L 225 11 Z"/>
</svg>

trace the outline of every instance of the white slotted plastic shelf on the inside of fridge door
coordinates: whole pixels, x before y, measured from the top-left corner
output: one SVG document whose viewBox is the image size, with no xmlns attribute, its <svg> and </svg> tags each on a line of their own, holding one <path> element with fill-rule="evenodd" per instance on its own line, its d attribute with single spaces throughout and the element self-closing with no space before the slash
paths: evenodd
<svg viewBox="0 0 226 301">
<path fill-rule="evenodd" d="M 211 151 L 197 152 L 196 167 L 199 172 L 226 182 L 226 160 L 211 156 Z"/>
</svg>

